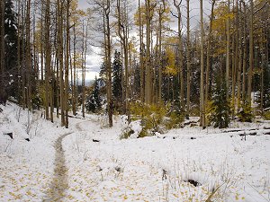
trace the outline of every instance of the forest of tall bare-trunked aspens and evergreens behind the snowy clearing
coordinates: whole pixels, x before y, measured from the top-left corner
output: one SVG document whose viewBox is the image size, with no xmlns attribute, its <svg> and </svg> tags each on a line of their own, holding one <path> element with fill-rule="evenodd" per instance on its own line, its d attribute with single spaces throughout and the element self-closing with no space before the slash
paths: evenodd
<svg viewBox="0 0 270 202">
<path fill-rule="evenodd" d="M 43 109 L 68 127 L 69 114 L 154 125 L 200 117 L 200 126 L 270 118 L 267 0 L 1 1 L 0 101 Z M 197 9 L 197 16 L 190 13 Z M 196 18 L 197 20 L 193 20 Z M 100 49 L 100 74 L 85 84 L 86 56 Z M 146 124 L 147 125 L 147 124 Z"/>
</svg>

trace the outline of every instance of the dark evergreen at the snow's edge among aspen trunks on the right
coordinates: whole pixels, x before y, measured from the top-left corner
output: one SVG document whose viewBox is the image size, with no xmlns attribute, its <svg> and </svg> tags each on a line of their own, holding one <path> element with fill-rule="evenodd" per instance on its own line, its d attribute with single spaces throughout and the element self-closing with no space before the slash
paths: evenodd
<svg viewBox="0 0 270 202">
<path fill-rule="evenodd" d="M 220 83 L 220 79 L 218 79 L 207 116 L 213 127 L 225 128 L 229 126 L 230 108 L 226 92 L 226 83 Z"/>
</svg>

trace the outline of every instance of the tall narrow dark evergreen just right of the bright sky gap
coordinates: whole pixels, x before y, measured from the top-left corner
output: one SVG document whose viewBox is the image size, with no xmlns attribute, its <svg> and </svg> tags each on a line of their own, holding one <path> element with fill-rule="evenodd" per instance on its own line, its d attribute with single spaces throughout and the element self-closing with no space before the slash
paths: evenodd
<svg viewBox="0 0 270 202">
<path fill-rule="evenodd" d="M 122 86 L 121 86 L 122 62 L 121 53 L 115 50 L 112 63 L 112 99 L 116 110 L 121 109 Z"/>
</svg>

